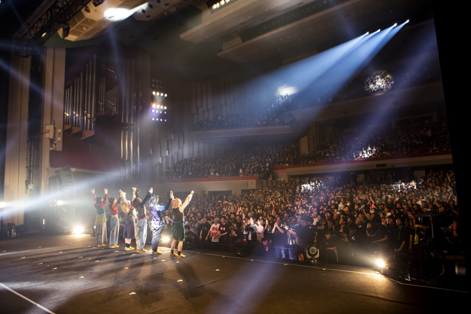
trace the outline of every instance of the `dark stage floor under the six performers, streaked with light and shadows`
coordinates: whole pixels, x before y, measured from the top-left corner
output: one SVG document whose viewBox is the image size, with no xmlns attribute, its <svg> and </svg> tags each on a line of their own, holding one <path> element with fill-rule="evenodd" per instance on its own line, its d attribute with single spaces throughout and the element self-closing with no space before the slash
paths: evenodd
<svg viewBox="0 0 471 314">
<path fill-rule="evenodd" d="M 398 284 L 369 268 L 204 250 L 170 258 L 170 249 L 152 255 L 119 244 L 97 248 L 89 235 L 1 241 L 0 312 L 416 314 L 459 310 L 468 297 Z"/>
</svg>

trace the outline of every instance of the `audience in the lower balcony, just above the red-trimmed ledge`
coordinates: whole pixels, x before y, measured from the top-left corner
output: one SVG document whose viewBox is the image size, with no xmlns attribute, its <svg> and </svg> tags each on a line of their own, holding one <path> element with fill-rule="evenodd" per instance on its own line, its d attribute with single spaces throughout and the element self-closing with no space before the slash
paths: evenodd
<svg viewBox="0 0 471 314">
<path fill-rule="evenodd" d="M 227 148 L 218 158 L 178 161 L 166 179 L 201 177 L 269 177 L 273 166 L 349 161 L 364 158 L 450 151 L 447 122 L 424 122 L 397 128 L 345 129 L 330 141 L 320 141 L 314 153 L 300 154 L 298 145 L 254 145 Z"/>
</svg>

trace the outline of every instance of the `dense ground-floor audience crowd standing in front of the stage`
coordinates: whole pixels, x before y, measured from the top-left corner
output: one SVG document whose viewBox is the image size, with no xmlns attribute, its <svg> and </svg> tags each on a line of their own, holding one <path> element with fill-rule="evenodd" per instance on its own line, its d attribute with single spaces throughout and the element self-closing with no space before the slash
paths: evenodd
<svg viewBox="0 0 471 314">
<path fill-rule="evenodd" d="M 247 252 L 286 259 L 303 258 L 302 249 L 317 244 L 323 261 L 365 265 L 374 258 L 414 254 L 431 236 L 430 225 L 415 215 L 437 213 L 438 231 L 427 267 L 442 274 L 444 255 L 462 254 L 455 191 L 455 173 L 449 169 L 430 170 L 418 183 L 399 185 L 303 177 L 241 195 L 195 194 L 185 210 L 186 243 L 228 251 L 240 240 Z M 163 216 L 168 232 L 171 212 Z"/>
</svg>

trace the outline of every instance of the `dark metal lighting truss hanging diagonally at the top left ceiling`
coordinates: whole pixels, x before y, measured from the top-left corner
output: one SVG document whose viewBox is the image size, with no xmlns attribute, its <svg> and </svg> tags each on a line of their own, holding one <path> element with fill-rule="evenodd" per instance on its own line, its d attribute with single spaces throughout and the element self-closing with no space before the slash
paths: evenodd
<svg viewBox="0 0 471 314">
<path fill-rule="evenodd" d="M 19 38 L 15 54 L 25 58 L 31 56 L 34 46 L 42 46 L 89 2 L 90 0 L 56 0 Z"/>
</svg>

